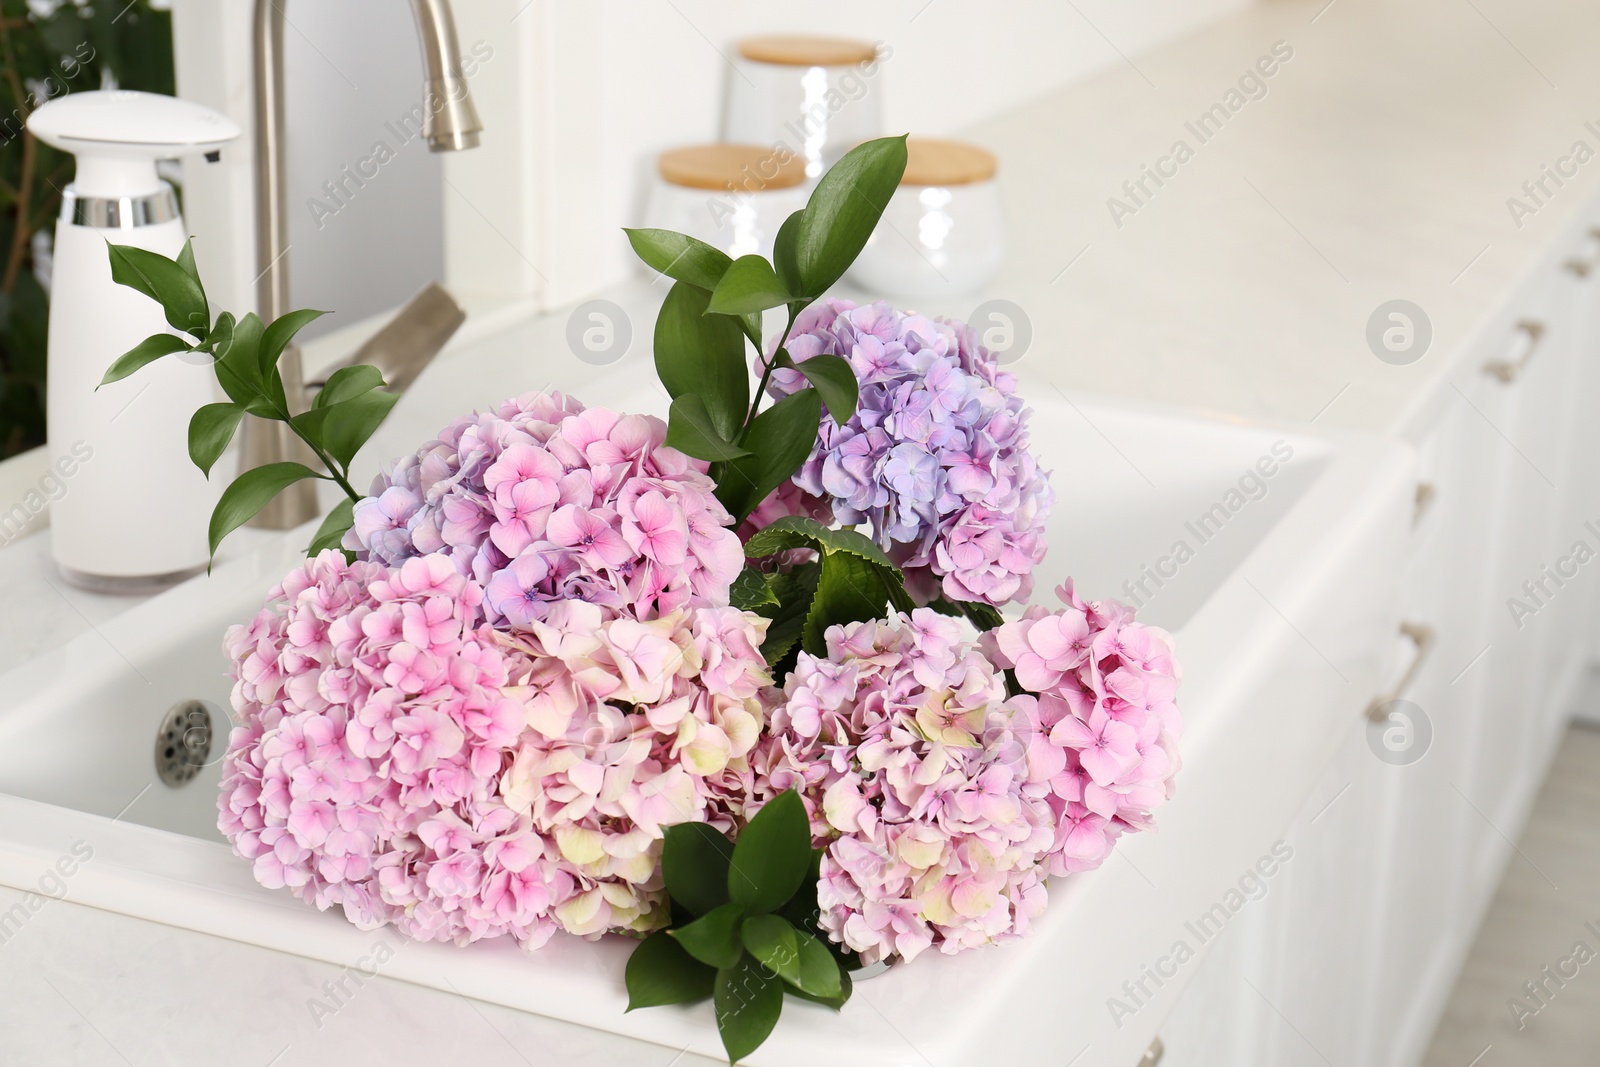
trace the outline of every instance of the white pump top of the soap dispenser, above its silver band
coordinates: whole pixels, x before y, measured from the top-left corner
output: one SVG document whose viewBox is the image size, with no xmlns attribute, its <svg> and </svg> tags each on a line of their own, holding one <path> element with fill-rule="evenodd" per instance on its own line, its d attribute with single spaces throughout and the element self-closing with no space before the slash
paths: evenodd
<svg viewBox="0 0 1600 1067">
<path fill-rule="evenodd" d="M 141 197 L 158 192 L 155 160 L 214 158 L 240 134 L 227 115 L 176 96 L 98 90 L 43 104 L 27 128 L 45 144 L 77 157 L 72 190 L 80 197 Z"/>
</svg>

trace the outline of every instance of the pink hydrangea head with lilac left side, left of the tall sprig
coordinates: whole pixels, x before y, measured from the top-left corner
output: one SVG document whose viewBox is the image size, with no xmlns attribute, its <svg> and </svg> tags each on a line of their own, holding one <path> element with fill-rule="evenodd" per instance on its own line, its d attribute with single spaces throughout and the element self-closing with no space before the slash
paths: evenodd
<svg viewBox="0 0 1600 1067">
<path fill-rule="evenodd" d="M 744 566 L 707 464 L 666 424 L 528 394 L 451 422 L 355 506 L 344 547 L 381 563 L 445 552 L 483 613 L 526 625 L 568 598 L 637 617 L 728 601 Z"/>
</svg>

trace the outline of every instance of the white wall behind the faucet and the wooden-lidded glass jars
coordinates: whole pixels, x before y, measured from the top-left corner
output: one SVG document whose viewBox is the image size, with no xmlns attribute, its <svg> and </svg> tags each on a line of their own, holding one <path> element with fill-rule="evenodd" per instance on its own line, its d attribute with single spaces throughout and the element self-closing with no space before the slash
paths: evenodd
<svg viewBox="0 0 1600 1067">
<path fill-rule="evenodd" d="M 493 50 L 472 80 L 483 147 L 440 157 L 435 195 L 434 162 L 410 146 L 381 186 L 322 232 L 306 230 L 307 186 L 366 154 L 374 126 L 410 107 L 416 43 L 405 0 L 285 2 L 291 192 L 301 194 L 291 283 L 296 302 L 336 307 L 349 322 L 398 304 L 437 274 L 440 227 L 445 280 L 469 302 L 536 298 L 558 307 L 626 277 L 634 267 L 619 227 L 638 221 L 661 149 L 715 138 L 725 56 L 739 37 L 797 30 L 886 42 L 893 58 L 878 85 L 888 130 L 941 134 L 1251 0 L 458 0 L 462 48 Z M 246 125 L 251 3 L 174 0 L 179 93 Z M 250 242 L 248 171 L 238 171 L 248 157 L 248 146 L 230 152 L 190 197 L 190 227 L 208 237 L 224 278 L 213 291 L 234 306 L 248 306 L 240 296 L 250 299 L 253 277 L 238 250 Z M 402 163 L 414 171 L 389 173 Z"/>
</svg>

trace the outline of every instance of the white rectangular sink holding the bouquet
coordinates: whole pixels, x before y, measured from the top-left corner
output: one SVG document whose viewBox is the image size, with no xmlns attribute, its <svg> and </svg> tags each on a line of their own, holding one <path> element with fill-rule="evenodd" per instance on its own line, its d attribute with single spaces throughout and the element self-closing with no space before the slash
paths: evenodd
<svg viewBox="0 0 1600 1067">
<path fill-rule="evenodd" d="M 581 395 L 659 413 L 664 398 L 626 384 L 637 381 L 613 376 Z M 1403 446 L 1024 389 L 1058 493 L 1034 598 L 1053 605 L 1070 573 L 1083 595 L 1141 603 L 1174 632 L 1187 726 L 1178 797 L 1158 833 L 1058 880 L 1024 942 L 922 957 L 861 984 L 838 1016 L 789 1003 L 752 1064 L 942 1067 L 1046 1049 L 1059 1062 L 1090 1049 L 1080 1067 L 1134 1062 L 1162 1009 L 1117 1025 L 1107 997 L 1270 848 L 1389 669 L 1411 501 Z M 432 424 L 408 416 L 384 443 L 422 440 Z M 226 731 L 221 633 L 254 613 L 306 539 L 262 537 L 210 577 L 0 675 L 0 883 L 34 889 L 83 841 L 93 859 L 69 885 L 80 904 L 338 965 L 370 955 L 374 934 L 259 888 L 232 857 L 214 825 L 221 733 L 194 781 L 171 787 L 155 769 L 173 705 L 202 701 Z M 622 1013 L 627 952 L 616 937 L 557 936 L 536 955 L 414 944 L 384 973 L 717 1056 L 704 1005 Z M 1165 1003 L 1181 981 L 1163 987 Z"/>
</svg>

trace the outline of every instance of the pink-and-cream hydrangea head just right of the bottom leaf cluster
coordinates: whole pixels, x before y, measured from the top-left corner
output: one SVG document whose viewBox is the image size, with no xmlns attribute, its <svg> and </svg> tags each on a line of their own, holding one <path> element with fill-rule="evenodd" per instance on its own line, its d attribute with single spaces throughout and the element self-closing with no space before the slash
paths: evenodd
<svg viewBox="0 0 1600 1067">
<path fill-rule="evenodd" d="M 1045 907 L 1054 819 L 1026 790 L 1005 683 L 920 608 L 802 654 L 754 757 L 754 803 L 795 787 L 827 851 L 821 928 L 864 961 L 1021 936 Z"/>
</svg>

